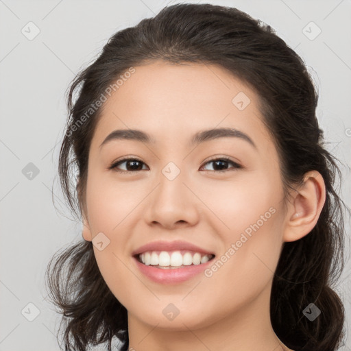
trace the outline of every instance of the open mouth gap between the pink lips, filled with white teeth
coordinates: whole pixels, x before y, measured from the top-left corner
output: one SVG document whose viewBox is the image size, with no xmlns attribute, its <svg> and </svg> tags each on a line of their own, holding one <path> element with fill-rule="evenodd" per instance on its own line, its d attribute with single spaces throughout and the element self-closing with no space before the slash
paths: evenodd
<svg viewBox="0 0 351 351">
<path fill-rule="evenodd" d="M 186 267 L 204 265 L 208 261 L 212 261 L 215 255 L 191 250 L 154 250 L 135 254 L 134 258 L 142 265 L 158 269 L 184 269 Z"/>
</svg>

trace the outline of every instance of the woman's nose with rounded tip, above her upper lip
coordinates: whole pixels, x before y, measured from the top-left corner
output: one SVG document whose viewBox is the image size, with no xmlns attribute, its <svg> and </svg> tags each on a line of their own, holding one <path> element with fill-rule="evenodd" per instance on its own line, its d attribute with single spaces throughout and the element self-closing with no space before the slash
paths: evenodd
<svg viewBox="0 0 351 351">
<path fill-rule="evenodd" d="M 177 226 L 194 226 L 199 220 L 201 202 L 191 189 L 189 181 L 184 182 L 182 173 L 175 179 L 160 175 L 156 189 L 149 195 L 145 220 L 150 226 L 174 229 Z"/>
</svg>

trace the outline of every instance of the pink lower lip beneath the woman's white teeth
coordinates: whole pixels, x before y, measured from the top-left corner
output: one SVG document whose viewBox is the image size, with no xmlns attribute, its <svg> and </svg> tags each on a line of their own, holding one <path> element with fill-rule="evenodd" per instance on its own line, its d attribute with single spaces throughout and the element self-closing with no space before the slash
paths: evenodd
<svg viewBox="0 0 351 351">
<path fill-rule="evenodd" d="M 143 263 L 139 262 L 135 257 L 133 258 L 138 266 L 138 269 L 141 270 L 141 273 L 145 274 L 147 278 L 153 280 L 154 282 L 161 284 L 185 282 L 197 274 L 200 274 L 202 271 L 204 271 L 204 269 L 213 263 L 213 259 L 211 259 L 210 261 L 200 265 L 189 265 L 183 268 L 162 269 L 156 268 L 152 265 L 143 265 Z"/>
</svg>

